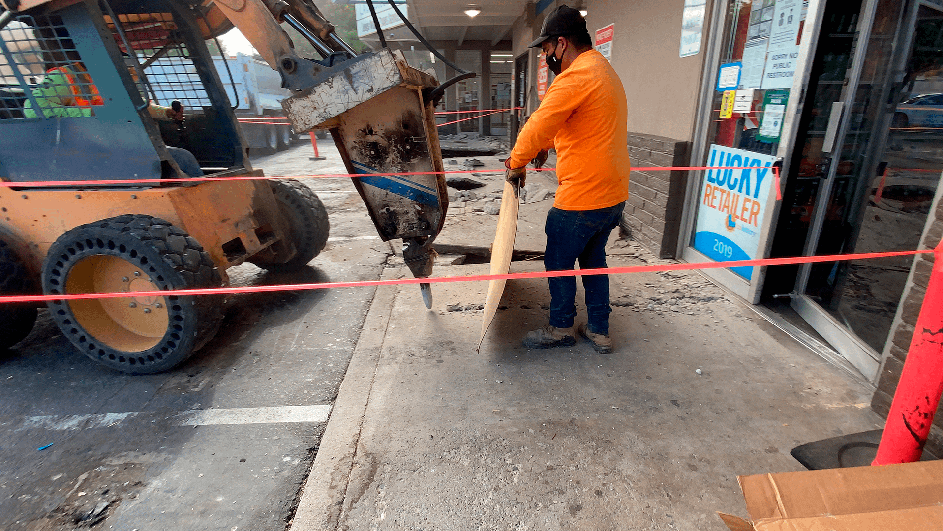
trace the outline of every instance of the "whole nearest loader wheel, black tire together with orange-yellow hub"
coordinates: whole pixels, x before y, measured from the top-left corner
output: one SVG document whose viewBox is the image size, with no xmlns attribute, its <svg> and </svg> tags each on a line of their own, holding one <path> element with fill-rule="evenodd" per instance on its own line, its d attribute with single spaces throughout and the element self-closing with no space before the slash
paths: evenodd
<svg viewBox="0 0 943 531">
<path fill-rule="evenodd" d="M 66 232 L 42 265 L 48 294 L 217 288 L 219 270 L 183 229 L 124 215 Z M 173 369 L 216 335 L 221 295 L 49 301 L 50 316 L 75 348 L 122 373 Z"/>
</svg>

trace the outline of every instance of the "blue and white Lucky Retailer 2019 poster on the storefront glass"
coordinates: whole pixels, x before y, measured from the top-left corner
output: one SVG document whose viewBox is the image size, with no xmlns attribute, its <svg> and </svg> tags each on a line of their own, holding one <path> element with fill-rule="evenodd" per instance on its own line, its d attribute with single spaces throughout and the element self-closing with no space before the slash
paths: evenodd
<svg viewBox="0 0 943 531">
<path fill-rule="evenodd" d="M 694 225 L 694 248 L 717 261 L 757 257 L 772 187 L 769 155 L 711 144 L 705 166 L 749 166 L 742 170 L 705 170 Z M 755 168 L 755 169 L 753 169 Z M 731 271 L 750 280 L 753 267 Z"/>
</svg>

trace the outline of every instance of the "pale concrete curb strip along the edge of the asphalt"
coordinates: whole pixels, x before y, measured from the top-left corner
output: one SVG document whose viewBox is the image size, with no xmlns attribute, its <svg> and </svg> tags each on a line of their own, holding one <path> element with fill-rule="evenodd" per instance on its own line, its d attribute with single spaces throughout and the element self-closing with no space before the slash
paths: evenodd
<svg viewBox="0 0 943 531">
<path fill-rule="evenodd" d="M 402 274 L 400 269 L 389 269 L 382 277 L 398 278 Z M 377 287 L 289 531 L 334 531 L 338 528 L 398 289 L 399 286 Z"/>
</svg>

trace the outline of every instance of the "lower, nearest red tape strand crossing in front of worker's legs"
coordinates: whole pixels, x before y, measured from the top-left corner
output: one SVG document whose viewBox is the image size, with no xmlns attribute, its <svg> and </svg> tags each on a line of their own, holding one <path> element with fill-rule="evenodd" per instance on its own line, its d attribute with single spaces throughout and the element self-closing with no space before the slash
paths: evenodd
<svg viewBox="0 0 943 531">
<path fill-rule="evenodd" d="M 823 257 L 786 257 L 757 258 L 751 260 L 731 260 L 726 262 L 697 262 L 679 264 L 661 264 L 651 266 L 626 266 L 575 271 L 538 271 L 531 273 L 509 274 L 472 274 L 469 276 L 440 276 L 430 278 L 399 278 L 395 280 L 358 280 L 353 282 L 325 282 L 319 284 L 280 284 L 273 286 L 244 286 L 229 288 L 200 288 L 190 290 L 154 290 L 123 291 L 107 293 L 70 293 L 60 295 L 11 295 L 0 297 L 3 303 L 39 303 L 44 301 L 74 301 L 83 299 L 112 299 L 121 297 L 166 297 L 182 295 L 208 295 L 224 293 L 250 293 L 268 291 L 324 290 L 327 288 L 358 288 L 361 286 L 390 286 L 398 284 L 436 284 L 440 282 L 475 282 L 481 280 L 510 280 L 515 278 L 544 278 L 550 276 L 583 276 L 588 274 L 629 274 L 654 273 L 659 271 L 698 271 L 703 269 L 726 269 L 745 266 L 770 266 L 801 264 L 814 262 L 834 262 L 840 260 L 858 260 L 863 258 L 905 257 L 924 253 L 933 253 L 934 249 L 919 251 L 889 251 L 884 253 L 859 253 L 852 255 L 828 255 Z"/>
</svg>

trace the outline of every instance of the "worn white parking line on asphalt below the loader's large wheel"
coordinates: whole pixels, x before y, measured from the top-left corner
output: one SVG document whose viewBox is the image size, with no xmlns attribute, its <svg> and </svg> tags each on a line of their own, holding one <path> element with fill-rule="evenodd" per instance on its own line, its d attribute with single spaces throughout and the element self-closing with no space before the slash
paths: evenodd
<svg viewBox="0 0 943 531">
<path fill-rule="evenodd" d="M 220 424 L 326 423 L 330 406 L 233 407 L 191 409 L 171 415 L 157 411 L 125 411 L 99 415 L 40 415 L 26 417 L 17 431 L 30 428 L 73 430 L 111 427 L 138 416 L 173 418 L 174 425 L 203 426 Z"/>
</svg>

